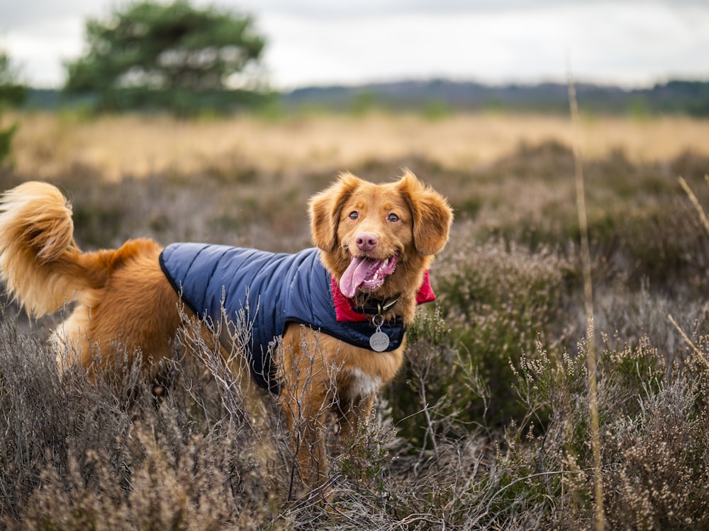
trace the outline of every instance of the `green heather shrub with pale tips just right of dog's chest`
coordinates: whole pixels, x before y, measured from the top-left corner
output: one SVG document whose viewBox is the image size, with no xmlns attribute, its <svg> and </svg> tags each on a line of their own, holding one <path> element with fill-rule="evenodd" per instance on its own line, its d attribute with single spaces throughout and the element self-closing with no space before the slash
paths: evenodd
<svg viewBox="0 0 709 531">
<path fill-rule="evenodd" d="M 443 389 L 461 397 L 457 406 L 465 421 L 503 426 L 525 416 L 513 394 L 510 363 L 518 363 L 523 354 L 533 356 L 540 346 L 559 348 L 565 267 L 550 250 L 532 253 L 501 241 L 457 241 L 441 257 L 436 277 L 440 318 L 450 327 L 445 337 L 458 350 L 457 372 Z M 465 375 L 472 374 L 479 376 L 485 401 L 465 388 L 471 381 Z"/>
</svg>

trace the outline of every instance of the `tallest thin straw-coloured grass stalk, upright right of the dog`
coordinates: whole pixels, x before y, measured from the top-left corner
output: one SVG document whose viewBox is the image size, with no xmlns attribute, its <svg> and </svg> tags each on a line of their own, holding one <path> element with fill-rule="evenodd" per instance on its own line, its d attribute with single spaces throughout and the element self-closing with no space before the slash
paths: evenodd
<svg viewBox="0 0 709 531">
<path fill-rule="evenodd" d="M 569 74 L 569 109 L 574 129 L 574 180 L 576 182 L 576 209 L 579 212 L 579 233 L 581 235 L 581 267 L 584 275 L 584 309 L 586 310 L 586 355 L 588 362 L 588 413 L 591 417 L 591 451 L 593 452 L 594 498 L 596 502 L 596 530 L 603 531 L 603 470 L 601 467 L 601 429 L 598 421 L 598 382 L 596 379 L 596 341 L 593 331 L 593 283 L 591 279 L 591 251 L 588 244 L 588 217 L 586 210 L 586 190 L 584 187 L 584 165 L 581 157 L 581 123 L 579 102 L 576 100 L 576 86 Z"/>
</svg>

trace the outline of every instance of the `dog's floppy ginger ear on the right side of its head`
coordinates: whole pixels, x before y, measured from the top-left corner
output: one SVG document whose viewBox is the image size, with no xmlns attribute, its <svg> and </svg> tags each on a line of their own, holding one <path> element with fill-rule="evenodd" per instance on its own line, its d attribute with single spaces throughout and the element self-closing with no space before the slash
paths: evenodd
<svg viewBox="0 0 709 531">
<path fill-rule="evenodd" d="M 448 241 L 453 222 L 453 210 L 447 200 L 408 170 L 396 185 L 411 207 L 416 251 L 425 256 L 437 253 Z"/>
</svg>

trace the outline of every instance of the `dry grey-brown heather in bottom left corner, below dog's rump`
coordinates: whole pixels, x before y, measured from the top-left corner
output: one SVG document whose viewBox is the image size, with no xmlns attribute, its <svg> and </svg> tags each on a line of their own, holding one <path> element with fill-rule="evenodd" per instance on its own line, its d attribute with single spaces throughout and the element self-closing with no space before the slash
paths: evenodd
<svg viewBox="0 0 709 531">
<path fill-rule="evenodd" d="M 6 527 L 256 529 L 278 512 L 281 465 L 260 466 L 259 436 L 233 421 L 213 380 L 179 368 L 189 364 L 173 366 L 156 402 L 137 364 L 94 383 L 79 370 L 60 378 L 48 348 L 11 320 L 0 338 Z"/>
</svg>

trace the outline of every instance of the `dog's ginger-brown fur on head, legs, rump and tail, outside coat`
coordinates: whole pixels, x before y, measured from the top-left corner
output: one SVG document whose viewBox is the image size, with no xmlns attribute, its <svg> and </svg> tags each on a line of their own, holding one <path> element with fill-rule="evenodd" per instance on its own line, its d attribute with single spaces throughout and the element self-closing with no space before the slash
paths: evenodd
<svg viewBox="0 0 709 531">
<path fill-rule="evenodd" d="M 376 235 L 379 244 L 369 258 L 396 253 L 396 271 L 372 295 L 398 295 L 384 318 L 401 316 L 410 324 L 423 272 L 448 239 L 452 211 L 446 200 L 409 171 L 380 185 L 345 173 L 309 206 L 313 241 L 335 280 L 342 278 L 352 253 L 359 252 L 357 234 Z M 353 211 L 357 219 L 351 219 Z M 392 213 L 396 221 L 390 219 Z M 60 370 L 73 362 L 89 374 L 109 370 L 116 366 L 120 349 L 129 357 L 140 356 L 147 377 L 155 378 L 157 362 L 172 353 L 171 341 L 183 325 L 179 297 L 158 262 L 162 247 L 135 239 L 116 250 L 82 253 L 74 242 L 71 215 L 62 193 L 47 183 L 23 183 L 2 196 L 0 274 L 7 290 L 30 316 L 74 303 L 72 314 L 52 334 L 60 347 Z M 351 439 L 369 415 L 377 389 L 401 367 L 403 350 L 402 344 L 374 353 L 303 326 L 288 326 L 277 355 L 283 382 L 279 404 L 293 433 L 291 445 L 304 486 L 324 484 L 328 477 L 328 413 L 337 414 L 342 438 Z M 74 354 L 67 359 L 62 353 Z"/>
</svg>

